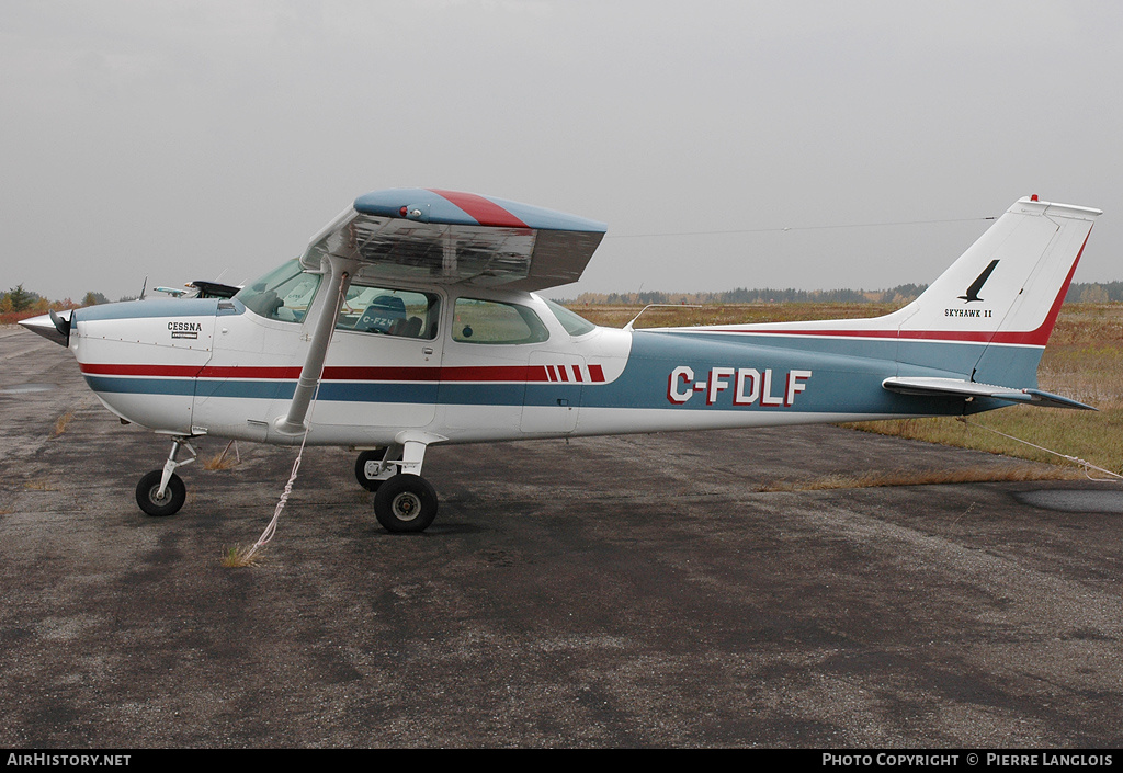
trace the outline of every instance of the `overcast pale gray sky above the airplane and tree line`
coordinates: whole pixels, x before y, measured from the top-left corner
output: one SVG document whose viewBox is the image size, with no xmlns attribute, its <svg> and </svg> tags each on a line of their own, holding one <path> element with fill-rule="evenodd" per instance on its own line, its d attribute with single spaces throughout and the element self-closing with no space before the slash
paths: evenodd
<svg viewBox="0 0 1123 773">
<path fill-rule="evenodd" d="M 606 221 L 554 295 L 929 282 L 1030 193 L 1120 280 L 1121 43 L 1116 1 L 4 0 L 0 290 L 240 283 L 413 185 Z"/>
</svg>

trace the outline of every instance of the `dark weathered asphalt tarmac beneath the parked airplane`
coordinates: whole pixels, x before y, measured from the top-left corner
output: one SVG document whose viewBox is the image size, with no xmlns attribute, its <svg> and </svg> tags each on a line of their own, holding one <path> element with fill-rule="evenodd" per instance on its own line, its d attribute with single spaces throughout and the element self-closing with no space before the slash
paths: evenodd
<svg viewBox="0 0 1123 773">
<path fill-rule="evenodd" d="M 395 536 L 310 448 L 225 569 L 294 448 L 146 517 L 168 444 L 10 327 L 0 422 L 0 747 L 1123 745 L 1123 486 L 760 491 L 1024 466 L 834 427 L 436 447 Z"/>
</svg>

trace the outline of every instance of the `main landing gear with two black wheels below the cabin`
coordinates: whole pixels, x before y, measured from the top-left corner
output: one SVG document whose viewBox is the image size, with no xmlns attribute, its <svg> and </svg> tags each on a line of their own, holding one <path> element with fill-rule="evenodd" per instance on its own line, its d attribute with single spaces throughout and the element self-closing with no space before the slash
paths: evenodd
<svg viewBox="0 0 1123 773">
<path fill-rule="evenodd" d="M 421 478 L 427 442 L 407 439 L 387 448 L 364 451 L 355 478 L 374 494 L 374 517 L 395 534 L 424 531 L 437 517 L 437 491 Z"/>
</svg>

